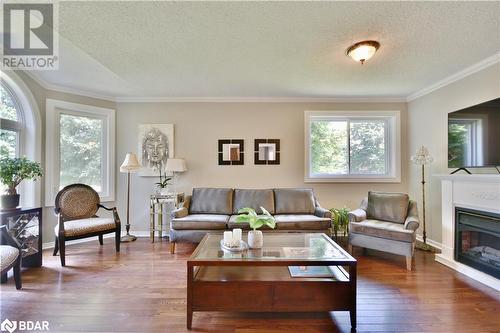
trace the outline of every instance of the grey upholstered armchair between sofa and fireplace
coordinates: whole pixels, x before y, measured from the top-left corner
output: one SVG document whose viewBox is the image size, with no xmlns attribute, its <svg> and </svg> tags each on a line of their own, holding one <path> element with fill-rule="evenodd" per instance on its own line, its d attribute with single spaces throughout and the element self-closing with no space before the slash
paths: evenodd
<svg viewBox="0 0 500 333">
<path fill-rule="evenodd" d="M 417 203 L 407 194 L 369 192 L 358 209 L 349 212 L 349 251 L 353 246 L 405 256 L 411 271 L 419 227 Z"/>
</svg>

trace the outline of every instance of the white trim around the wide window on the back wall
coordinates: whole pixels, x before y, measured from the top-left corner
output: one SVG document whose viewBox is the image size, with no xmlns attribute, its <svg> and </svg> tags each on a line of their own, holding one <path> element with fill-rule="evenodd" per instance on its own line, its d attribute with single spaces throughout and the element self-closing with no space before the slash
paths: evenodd
<svg viewBox="0 0 500 333">
<path fill-rule="evenodd" d="M 311 121 L 321 118 L 349 118 L 387 119 L 389 124 L 388 148 L 389 148 L 389 174 L 381 175 L 319 175 L 311 176 L 310 165 L 310 139 Z M 305 111 L 304 112 L 304 134 L 305 134 L 305 159 L 304 159 L 304 182 L 305 183 L 400 183 L 401 182 L 401 111 Z"/>
</svg>

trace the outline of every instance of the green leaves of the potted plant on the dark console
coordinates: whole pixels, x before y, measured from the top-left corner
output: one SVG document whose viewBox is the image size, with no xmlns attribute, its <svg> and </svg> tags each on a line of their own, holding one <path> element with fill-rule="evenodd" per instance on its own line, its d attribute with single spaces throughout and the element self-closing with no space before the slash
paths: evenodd
<svg viewBox="0 0 500 333">
<path fill-rule="evenodd" d="M 0 158 L 0 181 L 8 187 L 7 194 L 17 194 L 16 187 L 25 179 L 37 180 L 42 177 L 40 163 L 26 157 Z"/>
</svg>

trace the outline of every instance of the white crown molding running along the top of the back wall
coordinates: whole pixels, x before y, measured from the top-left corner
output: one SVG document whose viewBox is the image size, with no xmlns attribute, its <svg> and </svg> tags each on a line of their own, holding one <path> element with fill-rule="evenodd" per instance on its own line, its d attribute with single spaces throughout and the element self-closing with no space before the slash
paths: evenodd
<svg viewBox="0 0 500 333">
<path fill-rule="evenodd" d="M 405 97 L 117 97 L 118 103 L 404 103 Z"/>
</svg>

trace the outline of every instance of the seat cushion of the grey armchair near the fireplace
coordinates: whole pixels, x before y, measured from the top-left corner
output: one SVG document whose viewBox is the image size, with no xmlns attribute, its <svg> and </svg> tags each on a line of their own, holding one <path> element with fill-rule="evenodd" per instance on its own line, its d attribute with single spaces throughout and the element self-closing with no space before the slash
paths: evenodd
<svg viewBox="0 0 500 333">
<path fill-rule="evenodd" d="M 408 243 L 415 239 L 413 230 L 405 229 L 403 224 L 379 220 L 351 222 L 349 232 Z"/>
</svg>

